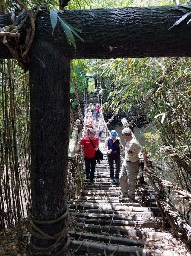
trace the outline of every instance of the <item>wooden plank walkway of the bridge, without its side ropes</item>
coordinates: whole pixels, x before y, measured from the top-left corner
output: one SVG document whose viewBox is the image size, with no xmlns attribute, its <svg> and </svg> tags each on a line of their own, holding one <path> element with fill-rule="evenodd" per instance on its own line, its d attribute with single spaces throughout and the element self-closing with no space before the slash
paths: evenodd
<svg viewBox="0 0 191 256">
<path fill-rule="evenodd" d="M 110 182 L 106 137 L 103 132 L 99 148 L 104 159 L 96 164 L 95 184 L 85 180 L 82 195 L 69 202 L 70 255 L 176 255 L 170 229 L 162 229 L 153 190 L 144 191 L 137 180 L 135 201 L 118 199 L 121 188 Z"/>
</svg>

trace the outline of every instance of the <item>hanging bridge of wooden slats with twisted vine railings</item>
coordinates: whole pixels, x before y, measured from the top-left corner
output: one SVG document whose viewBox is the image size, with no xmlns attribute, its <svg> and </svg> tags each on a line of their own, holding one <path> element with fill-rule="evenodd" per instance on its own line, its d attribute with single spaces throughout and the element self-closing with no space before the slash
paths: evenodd
<svg viewBox="0 0 191 256">
<path fill-rule="evenodd" d="M 90 95 L 85 103 L 88 105 L 92 102 L 96 106 L 97 101 L 97 97 Z M 81 138 L 85 134 L 84 129 Z M 136 181 L 134 202 L 127 203 L 127 199 L 119 199 L 121 188 L 119 183 L 110 182 L 107 152 L 104 150 L 108 134 L 105 125 L 99 141 L 103 161 L 96 164 L 95 184 L 84 178 L 85 166 L 81 155 L 78 156 L 78 161 L 81 161 L 79 173 L 70 172 L 69 194 L 72 192 L 72 196 L 69 196 L 68 201 L 71 222 L 67 255 L 179 255 L 178 248 L 184 247 L 179 238 L 188 241 L 191 229 L 165 190 L 165 187 L 175 188 L 156 175 L 149 161 L 152 171 L 147 176 L 152 186 L 141 175 Z M 73 142 L 73 148 L 74 145 Z M 141 168 L 143 170 L 143 164 Z M 190 204 L 191 198 L 186 191 L 176 187 L 176 192 L 179 196 L 187 195 Z"/>
</svg>

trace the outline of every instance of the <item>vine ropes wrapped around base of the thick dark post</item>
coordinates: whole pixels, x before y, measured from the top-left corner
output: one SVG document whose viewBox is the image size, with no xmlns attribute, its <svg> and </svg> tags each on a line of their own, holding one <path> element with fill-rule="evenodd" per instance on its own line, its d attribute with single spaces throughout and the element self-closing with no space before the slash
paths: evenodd
<svg viewBox="0 0 191 256">
<path fill-rule="evenodd" d="M 56 224 L 61 221 L 64 221 L 64 228 L 62 231 L 59 233 L 49 236 L 45 232 L 43 232 L 40 228 L 36 226 L 36 224 L 44 224 L 44 225 L 50 225 L 50 224 Z M 30 209 L 28 211 L 28 218 L 26 219 L 26 228 L 29 230 L 29 232 L 36 238 L 42 239 L 42 240 L 56 240 L 54 244 L 44 248 L 44 247 L 39 247 L 33 244 L 31 241 L 31 236 L 30 236 L 30 244 L 27 244 L 27 249 L 28 251 L 35 251 L 39 255 L 44 255 L 44 254 L 49 254 L 51 251 L 53 251 L 57 246 L 59 246 L 64 240 L 65 240 L 65 245 L 56 253 L 52 253 L 51 255 L 57 256 L 60 255 L 61 253 L 65 252 L 68 249 L 69 243 L 70 243 L 70 236 L 67 234 L 68 233 L 68 226 L 70 224 L 70 212 L 68 209 L 68 206 L 66 207 L 66 212 L 58 217 L 55 220 L 35 220 L 30 212 Z M 30 227 L 32 226 L 32 228 Z M 33 255 L 33 254 L 32 254 Z"/>
</svg>

